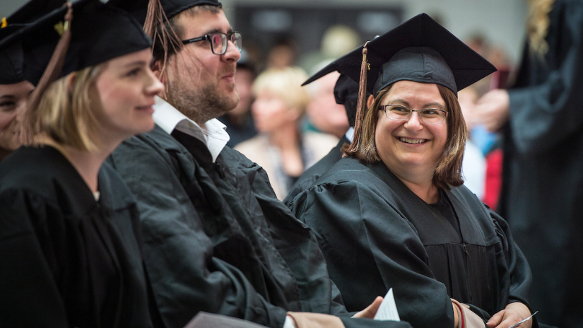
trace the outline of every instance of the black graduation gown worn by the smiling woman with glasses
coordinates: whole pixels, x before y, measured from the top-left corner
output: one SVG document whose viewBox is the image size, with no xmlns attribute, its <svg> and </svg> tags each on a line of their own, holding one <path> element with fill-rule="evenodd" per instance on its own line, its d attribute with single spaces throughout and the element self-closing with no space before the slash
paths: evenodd
<svg viewBox="0 0 583 328">
<path fill-rule="evenodd" d="M 416 328 L 453 327 L 449 298 L 484 320 L 510 302 L 528 305 L 529 266 L 505 221 L 464 186 L 444 194 L 461 238 L 382 162 L 341 159 L 292 210 L 316 230 L 348 310 L 391 287 L 401 320 Z"/>
</svg>

